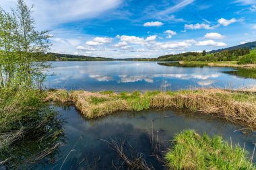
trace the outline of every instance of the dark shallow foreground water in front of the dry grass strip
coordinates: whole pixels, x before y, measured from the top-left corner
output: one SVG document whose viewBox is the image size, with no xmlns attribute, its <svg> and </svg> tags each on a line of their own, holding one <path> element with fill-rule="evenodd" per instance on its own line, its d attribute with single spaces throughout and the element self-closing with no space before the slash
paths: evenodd
<svg viewBox="0 0 256 170">
<path fill-rule="evenodd" d="M 135 151 L 143 153 L 148 164 L 152 164 L 155 169 L 164 169 L 162 163 L 152 156 L 152 122 L 154 143 L 160 144 L 160 151 L 166 151 L 174 134 L 187 129 L 197 130 L 199 134 L 207 132 L 210 136 L 220 134 L 226 140 L 231 139 L 232 144 L 245 144 L 250 157 L 256 142 L 256 134 L 243 134 L 238 130 L 243 128 L 241 126 L 183 110 L 123 112 L 96 120 L 86 120 L 73 107 L 57 110 L 67 120 L 64 125 L 66 141 L 54 159 L 38 164 L 37 169 L 59 169 L 62 164 L 62 169 L 113 169 L 113 163 L 119 167 L 123 161 L 108 148 L 106 142 L 99 140 L 110 138 L 118 141 L 127 138 Z M 234 132 L 235 130 L 238 131 Z M 75 151 L 69 154 L 72 149 Z M 67 159 L 64 161 L 65 158 Z M 253 161 L 256 162 L 256 158 Z"/>
</svg>

